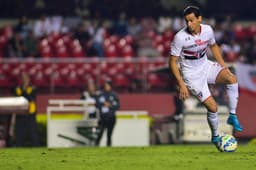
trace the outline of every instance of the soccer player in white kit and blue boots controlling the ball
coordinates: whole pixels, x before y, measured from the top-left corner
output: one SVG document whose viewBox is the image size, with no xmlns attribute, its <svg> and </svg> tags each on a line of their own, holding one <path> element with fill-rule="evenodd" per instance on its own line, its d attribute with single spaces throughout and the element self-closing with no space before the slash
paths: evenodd
<svg viewBox="0 0 256 170">
<path fill-rule="evenodd" d="M 190 93 L 207 109 L 207 121 L 212 133 L 212 143 L 220 141 L 218 133 L 218 108 L 211 96 L 208 84 L 224 84 L 229 98 L 229 117 L 227 123 L 234 130 L 242 131 L 236 108 L 238 102 L 238 83 L 225 64 L 219 46 L 216 44 L 213 29 L 201 24 L 201 11 L 196 6 L 188 6 L 183 11 L 186 27 L 176 33 L 171 44 L 169 67 L 177 80 L 179 97 L 185 100 Z M 216 62 L 208 60 L 207 48 L 210 48 Z M 179 66 L 177 65 L 179 62 Z"/>
</svg>

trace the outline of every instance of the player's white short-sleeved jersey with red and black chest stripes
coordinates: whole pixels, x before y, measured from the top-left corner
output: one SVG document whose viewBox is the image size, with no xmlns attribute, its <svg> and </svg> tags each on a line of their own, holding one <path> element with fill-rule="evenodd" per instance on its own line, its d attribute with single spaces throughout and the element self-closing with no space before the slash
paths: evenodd
<svg viewBox="0 0 256 170">
<path fill-rule="evenodd" d="M 190 34 L 187 27 L 181 29 L 171 43 L 170 55 L 180 57 L 182 72 L 203 69 L 208 61 L 207 47 L 216 43 L 211 26 L 205 24 L 200 26 L 200 33 L 197 35 Z"/>
</svg>

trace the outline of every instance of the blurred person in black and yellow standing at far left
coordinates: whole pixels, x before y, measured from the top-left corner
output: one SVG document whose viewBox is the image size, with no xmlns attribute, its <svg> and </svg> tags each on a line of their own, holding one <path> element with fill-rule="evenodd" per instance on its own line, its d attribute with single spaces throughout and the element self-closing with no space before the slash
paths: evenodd
<svg viewBox="0 0 256 170">
<path fill-rule="evenodd" d="M 28 113 L 16 115 L 15 139 L 17 147 L 39 146 L 36 123 L 36 89 L 30 84 L 27 73 L 21 74 L 21 85 L 14 89 L 15 96 L 24 96 L 29 101 Z"/>
</svg>

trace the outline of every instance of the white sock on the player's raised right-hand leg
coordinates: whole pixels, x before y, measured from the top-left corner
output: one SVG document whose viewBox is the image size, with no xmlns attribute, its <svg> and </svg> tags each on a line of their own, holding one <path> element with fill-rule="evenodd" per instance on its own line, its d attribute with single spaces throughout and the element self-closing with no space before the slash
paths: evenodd
<svg viewBox="0 0 256 170">
<path fill-rule="evenodd" d="M 229 112 L 236 114 L 237 102 L 238 102 L 238 83 L 227 85 L 228 105 Z"/>
</svg>

